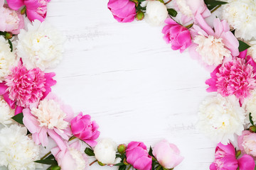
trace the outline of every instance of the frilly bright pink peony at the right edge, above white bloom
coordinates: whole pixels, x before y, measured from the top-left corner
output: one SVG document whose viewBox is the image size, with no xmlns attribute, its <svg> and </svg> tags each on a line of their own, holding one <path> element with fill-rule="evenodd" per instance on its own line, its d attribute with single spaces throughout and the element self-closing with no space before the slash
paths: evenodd
<svg viewBox="0 0 256 170">
<path fill-rule="evenodd" d="M 256 63 L 250 56 L 244 57 L 244 53 L 219 65 L 210 74 L 211 78 L 206 80 L 206 84 L 210 86 L 208 92 L 218 91 L 222 96 L 234 94 L 240 102 L 250 95 L 250 91 L 256 87 Z"/>
</svg>

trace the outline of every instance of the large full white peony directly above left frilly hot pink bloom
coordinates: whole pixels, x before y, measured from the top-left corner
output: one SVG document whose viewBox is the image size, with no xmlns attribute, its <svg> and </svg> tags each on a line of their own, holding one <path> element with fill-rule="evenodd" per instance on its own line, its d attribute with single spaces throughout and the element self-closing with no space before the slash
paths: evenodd
<svg viewBox="0 0 256 170">
<path fill-rule="evenodd" d="M 65 38 L 46 21 L 28 24 L 28 31 L 18 34 L 17 54 L 28 69 L 55 67 L 63 57 Z"/>
</svg>

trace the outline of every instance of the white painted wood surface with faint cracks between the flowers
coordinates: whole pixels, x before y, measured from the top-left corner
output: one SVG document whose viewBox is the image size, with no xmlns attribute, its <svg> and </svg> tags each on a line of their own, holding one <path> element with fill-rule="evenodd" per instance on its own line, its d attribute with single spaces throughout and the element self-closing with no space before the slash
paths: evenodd
<svg viewBox="0 0 256 170">
<path fill-rule="evenodd" d="M 53 92 L 90 114 L 100 138 L 148 147 L 166 139 L 185 157 L 176 170 L 208 169 L 215 144 L 195 124 L 210 74 L 188 52 L 171 50 L 162 26 L 117 23 L 107 0 L 52 0 L 46 21 L 67 36 L 63 62 L 49 70 L 57 74 Z"/>
</svg>

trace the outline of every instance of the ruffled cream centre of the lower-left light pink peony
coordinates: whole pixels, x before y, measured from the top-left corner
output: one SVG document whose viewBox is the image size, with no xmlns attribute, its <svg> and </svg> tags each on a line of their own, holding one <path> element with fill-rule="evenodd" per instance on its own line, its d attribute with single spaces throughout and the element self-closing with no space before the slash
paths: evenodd
<svg viewBox="0 0 256 170">
<path fill-rule="evenodd" d="M 36 115 L 41 127 L 58 128 L 58 130 L 64 130 L 68 127 L 68 122 L 64 120 L 67 114 L 53 99 L 40 101 L 38 108 L 31 108 L 31 113 Z"/>
</svg>

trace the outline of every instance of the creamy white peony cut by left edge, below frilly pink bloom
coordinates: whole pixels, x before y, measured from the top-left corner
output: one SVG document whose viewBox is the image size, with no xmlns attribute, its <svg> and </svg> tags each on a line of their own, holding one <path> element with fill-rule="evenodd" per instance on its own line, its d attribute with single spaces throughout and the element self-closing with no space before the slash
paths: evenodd
<svg viewBox="0 0 256 170">
<path fill-rule="evenodd" d="M 4 98 L 0 96 L 0 123 L 6 125 L 14 123 L 13 120 L 11 120 L 11 117 L 14 116 L 14 110 L 11 109 L 4 101 Z"/>
</svg>

